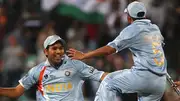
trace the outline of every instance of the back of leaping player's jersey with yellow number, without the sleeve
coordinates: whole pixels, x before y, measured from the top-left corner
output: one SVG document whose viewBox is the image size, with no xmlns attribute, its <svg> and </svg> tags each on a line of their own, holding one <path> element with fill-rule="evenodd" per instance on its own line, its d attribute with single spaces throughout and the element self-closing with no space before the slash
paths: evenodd
<svg viewBox="0 0 180 101">
<path fill-rule="evenodd" d="M 130 40 L 135 65 L 148 68 L 157 74 L 165 74 L 164 38 L 158 26 L 142 20 L 135 21 L 130 27 L 135 34 Z"/>
</svg>

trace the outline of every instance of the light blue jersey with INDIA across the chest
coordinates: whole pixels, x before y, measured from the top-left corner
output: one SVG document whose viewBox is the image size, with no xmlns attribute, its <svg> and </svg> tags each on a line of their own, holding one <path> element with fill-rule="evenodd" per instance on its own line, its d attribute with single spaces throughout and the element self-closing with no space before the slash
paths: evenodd
<svg viewBox="0 0 180 101">
<path fill-rule="evenodd" d="M 46 60 L 32 68 L 19 82 L 25 89 L 38 85 L 37 101 L 84 101 L 82 93 L 84 80 L 100 81 L 103 73 L 65 56 L 59 68 L 52 67 Z"/>
</svg>

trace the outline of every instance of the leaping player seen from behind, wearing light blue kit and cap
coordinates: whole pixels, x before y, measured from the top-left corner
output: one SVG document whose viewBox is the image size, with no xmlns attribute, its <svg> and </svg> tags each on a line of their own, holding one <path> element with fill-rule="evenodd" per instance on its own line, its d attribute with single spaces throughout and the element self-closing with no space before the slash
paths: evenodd
<svg viewBox="0 0 180 101">
<path fill-rule="evenodd" d="M 72 59 L 109 55 L 128 48 L 133 54 L 131 69 L 108 74 L 101 82 L 95 101 L 115 101 L 119 93 L 137 93 L 138 101 L 160 101 L 166 85 L 167 63 L 162 48 L 163 36 L 157 25 L 146 19 L 143 3 L 134 1 L 125 9 L 130 24 L 106 46 L 83 53 L 68 50 Z"/>
</svg>

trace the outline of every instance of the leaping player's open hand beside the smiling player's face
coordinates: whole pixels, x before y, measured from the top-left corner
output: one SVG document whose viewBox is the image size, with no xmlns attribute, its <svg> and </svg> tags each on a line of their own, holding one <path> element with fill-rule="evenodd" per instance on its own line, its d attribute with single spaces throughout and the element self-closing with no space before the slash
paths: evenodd
<svg viewBox="0 0 180 101">
<path fill-rule="evenodd" d="M 78 51 L 76 49 L 73 49 L 73 48 L 70 48 L 68 51 L 68 56 L 71 58 L 71 59 L 76 59 L 76 60 L 83 60 L 84 59 L 84 53 L 81 52 L 81 51 Z"/>
</svg>

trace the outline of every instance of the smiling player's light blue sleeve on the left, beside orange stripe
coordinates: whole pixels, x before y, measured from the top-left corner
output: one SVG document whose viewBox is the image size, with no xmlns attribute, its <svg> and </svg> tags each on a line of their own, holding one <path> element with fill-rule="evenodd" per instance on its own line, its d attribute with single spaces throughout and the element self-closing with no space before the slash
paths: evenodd
<svg viewBox="0 0 180 101">
<path fill-rule="evenodd" d="M 25 76 L 23 76 L 19 80 L 20 85 L 25 89 L 31 88 L 38 82 L 39 73 L 40 72 L 38 72 L 37 67 L 32 68 Z"/>
</svg>

